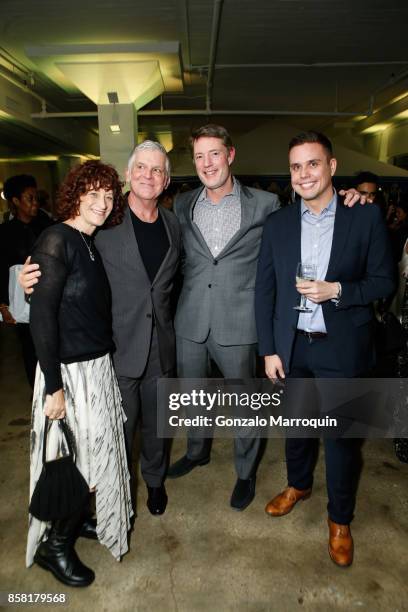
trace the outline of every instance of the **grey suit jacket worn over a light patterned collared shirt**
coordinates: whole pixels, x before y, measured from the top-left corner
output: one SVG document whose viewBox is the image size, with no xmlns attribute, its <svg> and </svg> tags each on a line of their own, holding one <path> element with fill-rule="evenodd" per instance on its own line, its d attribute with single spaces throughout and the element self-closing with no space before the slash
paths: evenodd
<svg viewBox="0 0 408 612">
<path fill-rule="evenodd" d="M 193 208 L 202 187 L 175 201 L 184 247 L 184 282 L 175 319 L 176 335 L 204 342 L 209 331 L 223 346 L 254 344 L 255 277 L 262 228 L 279 208 L 278 197 L 240 185 L 241 227 L 214 258 L 193 223 Z"/>
</svg>

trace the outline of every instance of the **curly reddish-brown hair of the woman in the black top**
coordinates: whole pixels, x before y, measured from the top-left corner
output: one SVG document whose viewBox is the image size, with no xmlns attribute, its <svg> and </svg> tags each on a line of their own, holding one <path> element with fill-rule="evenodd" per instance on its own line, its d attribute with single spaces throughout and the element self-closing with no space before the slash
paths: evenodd
<svg viewBox="0 0 408 612">
<path fill-rule="evenodd" d="M 122 194 L 123 183 L 115 168 L 100 161 L 86 161 L 71 168 L 58 192 L 56 213 L 61 221 L 72 219 L 79 213 L 80 197 L 92 189 L 112 190 L 113 208 L 104 227 L 122 222 L 125 198 Z"/>
</svg>

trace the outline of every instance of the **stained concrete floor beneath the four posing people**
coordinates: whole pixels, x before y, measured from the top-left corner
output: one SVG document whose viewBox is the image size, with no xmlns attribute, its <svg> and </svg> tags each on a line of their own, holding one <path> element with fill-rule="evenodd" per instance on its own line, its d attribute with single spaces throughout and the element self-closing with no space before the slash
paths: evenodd
<svg viewBox="0 0 408 612">
<path fill-rule="evenodd" d="M 0 591 L 64 592 L 70 610 L 87 612 L 408 610 L 408 465 L 395 458 L 390 440 L 363 449 L 349 569 L 337 568 L 327 553 L 322 457 L 311 499 L 286 517 L 265 515 L 265 503 L 285 485 L 276 440 L 244 512 L 229 507 L 231 440 L 216 440 L 209 465 L 167 482 L 162 517 L 148 512 L 141 483 L 131 550 L 121 563 L 97 542 L 78 541 L 81 559 L 96 572 L 93 585 L 63 587 L 37 566 L 26 569 L 30 390 L 14 330 L 4 325 L 0 364 Z M 173 458 L 183 450 L 177 440 Z"/>
</svg>

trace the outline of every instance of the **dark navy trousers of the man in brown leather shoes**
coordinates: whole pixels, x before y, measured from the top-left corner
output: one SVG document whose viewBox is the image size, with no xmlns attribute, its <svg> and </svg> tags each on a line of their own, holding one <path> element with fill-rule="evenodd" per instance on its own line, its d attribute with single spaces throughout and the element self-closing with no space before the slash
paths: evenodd
<svg viewBox="0 0 408 612">
<path fill-rule="evenodd" d="M 295 339 L 291 378 L 343 378 L 337 356 L 327 349 L 327 338 L 309 340 L 297 334 Z M 308 401 L 308 398 L 304 398 Z M 310 399 L 310 398 L 309 398 Z M 324 406 L 323 406 L 324 412 Z M 286 440 L 288 485 L 309 489 L 313 485 L 313 471 L 319 447 L 318 438 Z M 348 525 L 355 507 L 357 472 L 360 467 L 360 443 L 356 439 L 325 438 L 326 484 L 329 518 Z"/>
</svg>

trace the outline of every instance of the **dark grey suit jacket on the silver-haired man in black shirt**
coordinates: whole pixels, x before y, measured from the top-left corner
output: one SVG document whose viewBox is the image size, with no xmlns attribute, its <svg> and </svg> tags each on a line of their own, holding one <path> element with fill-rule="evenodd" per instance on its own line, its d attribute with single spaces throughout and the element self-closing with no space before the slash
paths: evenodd
<svg viewBox="0 0 408 612">
<path fill-rule="evenodd" d="M 180 259 L 181 235 L 175 215 L 164 208 L 160 212 L 170 247 L 153 283 L 140 256 L 128 206 L 120 225 L 102 230 L 96 237 L 112 291 L 116 347 L 113 359 L 118 376 L 142 376 L 149 356 L 153 318 L 163 373 L 175 365 L 170 296 Z"/>
</svg>

